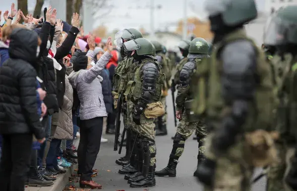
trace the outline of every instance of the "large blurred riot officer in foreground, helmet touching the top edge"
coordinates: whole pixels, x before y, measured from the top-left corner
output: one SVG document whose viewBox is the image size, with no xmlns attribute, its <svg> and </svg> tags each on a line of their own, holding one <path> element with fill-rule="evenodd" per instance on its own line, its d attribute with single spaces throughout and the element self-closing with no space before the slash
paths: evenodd
<svg viewBox="0 0 297 191">
<path fill-rule="evenodd" d="M 211 134 L 197 175 L 205 190 L 249 190 L 257 160 L 256 153 L 248 153 L 246 146 L 252 143 L 247 138 L 255 133 L 271 138 L 275 106 L 271 67 L 243 28 L 257 17 L 256 4 L 207 0 L 206 10 L 215 49 L 199 75 L 193 108 L 206 116 Z"/>
</svg>

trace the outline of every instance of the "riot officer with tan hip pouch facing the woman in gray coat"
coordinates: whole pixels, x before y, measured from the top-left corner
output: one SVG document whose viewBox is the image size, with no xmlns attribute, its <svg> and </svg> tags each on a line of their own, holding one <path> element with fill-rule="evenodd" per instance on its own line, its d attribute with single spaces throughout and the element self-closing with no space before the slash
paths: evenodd
<svg viewBox="0 0 297 191">
<path fill-rule="evenodd" d="M 127 112 L 130 119 L 129 124 L 138 132 L 138 141 L 142 145 L 143 156 L 142 172 L 129 179 L 131 187 L 149 187 L 156 184 L 156 145 L 154 136 L 155 113 L 148 115 L 147 108 L 155 107 L 157 111 L 161 103 L 161 89 L 164 81 L 164 74 L 161 74 L 161 67 L 152 56 L 153 45 L 145 38 L 124 43 L 126 51 L 136 60 L 134 78 L 128 82 L 125 96 L 127 96 Z M 162 113 L 163 114 L 163 113 Z"/>
</svg>

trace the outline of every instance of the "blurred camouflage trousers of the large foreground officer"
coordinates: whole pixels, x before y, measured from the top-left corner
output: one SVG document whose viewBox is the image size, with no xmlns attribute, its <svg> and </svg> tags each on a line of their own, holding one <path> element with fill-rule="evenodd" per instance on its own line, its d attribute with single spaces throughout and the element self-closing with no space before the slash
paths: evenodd
<svg viewBox="0 0 297 191">
<path fill-rule="evenodd" d="M 250 191 L 254 167 L 250 166 L 244 153 L 245 139 L 231 146 L 223 155 L 213 152 L 212 137 L 207 137 L 205 156 L 216 161 L 214 186 L 204 187 L 205 191 Z"/>
</svg>

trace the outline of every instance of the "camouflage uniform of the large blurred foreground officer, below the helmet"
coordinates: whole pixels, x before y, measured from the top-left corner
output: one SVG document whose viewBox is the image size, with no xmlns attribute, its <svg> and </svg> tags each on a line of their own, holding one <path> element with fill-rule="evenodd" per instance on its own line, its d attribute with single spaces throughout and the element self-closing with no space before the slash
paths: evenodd
<svg viewBox="0 0 297 191">
<path fill-rule="evenodd" d="M 248 191 L 251 189 L 251 178 L 254 167 L 263 167 L 271 162 L 270 159 L 268 160 L 267 158 L 262 158 L 265 160 L 265 163 L 263 162 L 261 165 L 255 162 L 258 156 L 254 156 L 252 152 L 248 152 L 249 150 L 247 148 L 250 148 L 252 145 L 250 142 L 247 142 L 247 136 L 250 137 L 251 134 L 260 133 L 261 137 L 265 136 L 269 139 L 270 143 L 272 142 L 271 145 L 268 145 L 267 148 L 265 147 L 263 151 L 261 150 L 261 153 L 267 153 L 270 151 L 270 148 L 274 148 L 273 141 L 268 133 L 273 126 L 273 108 L 276 104 L 275 94 L 273 93 L 273 77 L 270 66 L 265 62 L 264 55 L 257 49 L 255 43 L 247 38 L 243 30 L 236 30 L 228 34 L 222 39 L 222 42 L 224 43 L 216 44 L 215 47 L 217 49 L 213 52 L 211 62 L 201 65 L 201 67 L 204 67 L 206 70 L 199 73 L 197 83 L 198 92 L 196 93 L 197 98 L 195 99 L 197 103 L 193 105 L 193 108 L 195 108 L 197 115 L 207 114 L 206 119 L 209 121 L 208 125 L 213 128 L 213 133 L 209 135 L 206 140 L 206 159 L 198 166 L 197 176 L 199 180 L 205 184 L 204 190 Z M 253 75 L 249 77 L 243 76 L 247 73 L 242 73 L 242 67 L 238 69 L 233 67 L 236 64 L 236 66 L 238 66 L 238 62 L 236 59 L 234 61 L 232 60 L 234 57 L 228 57 L 228 55 L 226 55 L 226 53 L 228 53 L 227 50 L 230 49 L 239 51 L 237 53 L 233 52 L 233 54 L 247 53 L 249 58 L 256 58 L 255 61 L 245 59 L 246 63 L 242 62 L 242 64 L 256 65 L 253 67 L 254 70 L 250 71 L 254 72 Z M 220 56 L 218 56 L 218 50 L 221 50 Z M 232 65 L 227 66 L 225 64 L 226 61 L 221 60 L 222 58 L 231 58 L 228 60 L 228 63 Z M 224 68 L 218 67 L 222 65 Z M 230 71 L 230 68 L 232 68 L 232 72 L 226 72 Z M 224 73 L 222 71 L 224 71 Z M 240 75 L 240 79 L 245 80 L 230 80 L 230 77 L 232 78 L 236 75 Z M 241 108 L 245 106 L 245 104 L 227 106 L 225 99 L 235 99 L 232 93 L 248 95 L 254 92 L 250 89 L 236 89 L 236 87 L 239 87 L 239 84 L 240 86 L 246 87 L 247 84 L 250 84 L 250 82 L 254 80 L 255 75 L 259 76 L 261 80 L 257 83 L 257 87 L 254 87 L 257 88 L 255 90 L 256 92 L 251 95 L 252 97 L 255 95 L 255 102 L 247 102 L 247 107 L 245 108 Z M 207 89 L 209 90 L 207 93 L 207 89 L 205 88 L 206 81 L 208 81 Z M 241 101 L 246 102 L 245 100 Z M 235 101 L 230 101 L 230 103 L 232 102 L 235 103 Z M 222 123 L 222 120 L 234 120 L 228 118 L 228 116 L 234 115 L 232 111 L 234 107 L 236 111 L 248 110 L 244 113 L 240 112 L 241 115 L 248 114 L 242 116 L 245 117 L 245 123 L 242 125 L 229 121 Z M 256 115 L 255 112 L 257 112 Z M 230 127 L 229 123 L 234 124 L 234 126 Z M 225 126 L 226 124 L 228 124 L 229 129 Z M 242 133 L 235 131 L 239 128 L 242 129 L 240 131 Z M 261 131 L 259 131 L 260 129 Z M 266 140 L 263 142 L 266 144 Z M 271 160 L 274 159 L 275 157 L 271 158 Z M 266 162 L 266 160 L 268 162 Z"/>
</svg>

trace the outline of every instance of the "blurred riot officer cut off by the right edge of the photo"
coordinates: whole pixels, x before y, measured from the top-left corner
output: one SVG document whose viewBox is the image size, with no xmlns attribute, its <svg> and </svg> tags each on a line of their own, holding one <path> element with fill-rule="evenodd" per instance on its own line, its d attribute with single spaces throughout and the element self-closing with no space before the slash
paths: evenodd
<svg viewBox="0 0 297 191">
<path fill-rule="evenodd" d="M 276 126 L 276 130 L 280 133 L 280 139 L 276 142 L 280 160 L 271 165 L 268 171 L 269 191 L 297 189 L 296 10 L 297 6 L 280 8 L 270 16 L 264 31 L 264 50 L 275 70 L 280 103 Z M 284 178 L 286 181 L 283 181 Z"/>
</svg>

